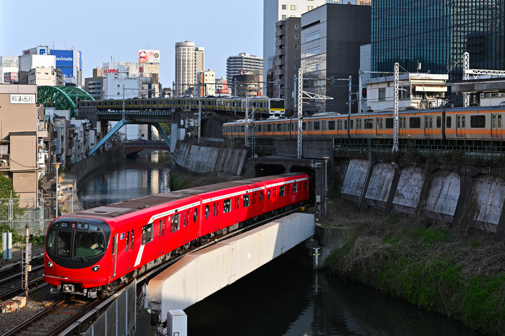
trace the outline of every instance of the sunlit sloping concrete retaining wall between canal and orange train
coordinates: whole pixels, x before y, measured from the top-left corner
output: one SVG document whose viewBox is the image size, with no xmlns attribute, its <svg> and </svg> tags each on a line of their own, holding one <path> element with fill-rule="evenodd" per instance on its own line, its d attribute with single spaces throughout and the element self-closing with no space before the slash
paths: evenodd
<svg viewBox="0 0 505 336">
<path fill-rule="evenodd" d="M 242 175 L 247 151 L 193 145 L 178 142 L 175 163 L 191 172 L 202 174 L 224 171 L 232 175 Z"/>
</svg>

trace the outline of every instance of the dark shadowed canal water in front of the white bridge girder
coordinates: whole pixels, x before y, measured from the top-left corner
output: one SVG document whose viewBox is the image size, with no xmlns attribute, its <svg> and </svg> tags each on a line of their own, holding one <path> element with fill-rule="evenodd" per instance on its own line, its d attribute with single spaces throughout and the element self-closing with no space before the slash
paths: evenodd
<svg viewBox="0 0 505 336">
<path fill-rule="evenodd" d="M 184 310 L 189 335 L 482 335 L 440 314 L 277 258 Z"/>
</svg>

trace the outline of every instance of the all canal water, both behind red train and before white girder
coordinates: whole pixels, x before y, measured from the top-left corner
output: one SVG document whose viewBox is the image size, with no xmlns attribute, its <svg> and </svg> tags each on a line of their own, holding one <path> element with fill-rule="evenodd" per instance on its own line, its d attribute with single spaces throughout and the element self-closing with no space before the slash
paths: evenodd
<svg viewBox="0 0 505 336">
<path fill-rule="evenodd" d="M 85 209 L 169 190 L 170 157 L 143 151 L 79 185 Z M 476 336 L 457 321 L 277 258 L 184 310 L 189 335 Z"/>
</svg>

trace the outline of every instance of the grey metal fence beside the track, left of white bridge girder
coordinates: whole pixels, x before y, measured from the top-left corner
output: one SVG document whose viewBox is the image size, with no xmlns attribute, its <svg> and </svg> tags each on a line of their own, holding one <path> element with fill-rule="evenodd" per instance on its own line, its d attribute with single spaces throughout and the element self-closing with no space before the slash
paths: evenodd
<svg viewBox="0 0 505 336">
<path fill-rule="evenodd" d="M 129 284 L 84 336 L 126 336 L 136 323 L 137 283 Z"/>
</svg>

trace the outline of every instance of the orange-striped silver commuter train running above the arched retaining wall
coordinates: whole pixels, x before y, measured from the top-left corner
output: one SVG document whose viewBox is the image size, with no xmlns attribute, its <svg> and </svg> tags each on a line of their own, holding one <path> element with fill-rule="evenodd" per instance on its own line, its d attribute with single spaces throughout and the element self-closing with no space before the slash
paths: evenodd
<svg viewBox="0 0 505 336">
<path fill-rule="evenodd" d="M 406 139 L 502 139 L 505 106 L 409 109 L 398 113 L 398 133 Z M 296 138 L 297 118 L 255 121 L 255 137 Z M 393 138 L 393 112 L 359 114 L 326 112 L 304 117 L 302 136 L 327 138 Z M 244 137 L 245 120 L 223 124 L 225 138 Z"/>
</svg>

